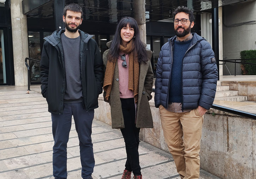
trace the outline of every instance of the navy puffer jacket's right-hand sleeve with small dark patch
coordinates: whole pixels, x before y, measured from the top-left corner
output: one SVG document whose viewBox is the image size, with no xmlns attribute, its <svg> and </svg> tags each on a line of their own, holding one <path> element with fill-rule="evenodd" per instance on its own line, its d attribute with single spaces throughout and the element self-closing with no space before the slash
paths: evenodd
<svg viewBox="0 0 256 179">
<path fill-rule="evenodd" d="M 218 80 L 214 52 L 207 41 L 201 41 L 201 72 L 203 75 L 201 97 L 198 105 L 209 110 L 213 105 Z"/>
</svg>

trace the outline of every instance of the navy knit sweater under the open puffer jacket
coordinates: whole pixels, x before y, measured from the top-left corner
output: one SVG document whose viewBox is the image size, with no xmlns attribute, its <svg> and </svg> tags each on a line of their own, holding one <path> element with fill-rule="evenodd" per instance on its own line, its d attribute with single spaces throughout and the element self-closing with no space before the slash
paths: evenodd
<svg viewBox="0 0 256 179">
<path fill-rule="evenodd" d="M 192 39 L 186 42 L 174 41 L 172 73 L 169 89 L 169 102 L 182 103 L 181 80 L 182 80 L 182 59 L 191 44 Z"/>
</svg>

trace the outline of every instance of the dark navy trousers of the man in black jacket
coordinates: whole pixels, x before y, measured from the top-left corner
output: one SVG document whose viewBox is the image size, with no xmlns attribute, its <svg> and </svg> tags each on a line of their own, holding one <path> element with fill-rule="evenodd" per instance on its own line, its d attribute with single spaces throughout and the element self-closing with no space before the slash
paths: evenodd
<svg viewBox="0 0 256 179">
<path fill-rule="evenodd" d="M 87 179 L 93 173 L 95 161 L 91 142 L 91 126 L 94 110 L 87 112 L 82 103 L 64 104 L 62 115 L 52 114 L 53 176 L 55 179 L 67 178 L 67 142 L 72 115 L 79 138 L 82 178 Z"/>
</svg>

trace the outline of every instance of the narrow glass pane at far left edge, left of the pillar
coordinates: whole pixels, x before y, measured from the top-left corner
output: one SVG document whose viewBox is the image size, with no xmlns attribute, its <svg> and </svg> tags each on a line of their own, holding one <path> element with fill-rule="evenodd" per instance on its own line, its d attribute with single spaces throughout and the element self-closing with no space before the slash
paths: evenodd
<svg viewBox="0 0 256 179">
<path fill-rule="evenodd" d="M 0 84 L 6 83 L 4 31 L 0 30 Z"/>
</svg>

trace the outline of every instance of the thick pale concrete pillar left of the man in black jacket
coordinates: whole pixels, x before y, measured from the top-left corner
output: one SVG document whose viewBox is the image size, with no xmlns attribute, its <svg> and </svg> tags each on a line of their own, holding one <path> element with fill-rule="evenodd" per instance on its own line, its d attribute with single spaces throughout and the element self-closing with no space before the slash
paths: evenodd
<svg viewBox="0 0 256 179">
<path fill-rule="evenodd" d="M 22 0 L 12 0 L 11 21 L 15 85 L 26 86 L 28 72 L 24 60 L 29 57 L 29 49 L 27 20 L 26 15 L 22 13 Z"/>
</svg>

